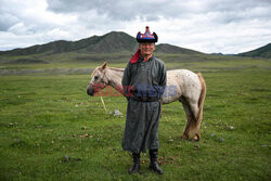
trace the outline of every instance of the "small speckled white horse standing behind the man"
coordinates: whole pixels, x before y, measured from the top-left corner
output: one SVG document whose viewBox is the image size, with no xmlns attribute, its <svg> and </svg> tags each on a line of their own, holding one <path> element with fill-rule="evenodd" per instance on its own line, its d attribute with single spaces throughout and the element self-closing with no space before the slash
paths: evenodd
<svg viewBox="0 0 271 181">
<path fill-rule="evenodd" d="M 100 89 L 112 86 L 120 93 L 124 93 L 121 87 L 124 70 L 124 68 L 106 67 L 106 63 L 96 67 L 91 75 L 87 93 L 94 95 L 98 85 Z M 175 89 L 167 89 L 170 87 Z M 188 122 L 181 138 L 199 141 L 199 126 L 203 119 L 203 106 L 206 96 L 206 83 L 201 73 L 195 74 L 188 69 L 168 70 L 167 88 L 162 98 L 163 104 L 180 101 L 186 114 Z"/>
</svg>

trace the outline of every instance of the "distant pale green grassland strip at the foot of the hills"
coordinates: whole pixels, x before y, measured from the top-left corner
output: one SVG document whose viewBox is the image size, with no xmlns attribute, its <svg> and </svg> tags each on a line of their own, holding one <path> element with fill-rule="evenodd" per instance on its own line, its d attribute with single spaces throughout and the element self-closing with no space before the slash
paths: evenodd
<svg viewBox="0 0 271 181">
<path fill-rule="evenodd" d="M 270 68 L 270 59 L 260 57 L 170 53 L 157 53 L 156 56 L 167 64 L 168 69 L 186 68 L 195 72 L 221 72 L 223 69 Z M 41 69 L 49 74 L 57 73 L 61 69 L 73 72 L 73 69 L 94 68 L 102 65 L 103 62 L 107 62 L 109 66 L 125 67 L 126 62 L 130 57 L 130 52 L 104 54 L 68 52 L 24 56 L 2 55 L 0 56 L 0 75 L 3 70 Z M 36 61 L 33 62 L 33 60 Z"/>
</svg>

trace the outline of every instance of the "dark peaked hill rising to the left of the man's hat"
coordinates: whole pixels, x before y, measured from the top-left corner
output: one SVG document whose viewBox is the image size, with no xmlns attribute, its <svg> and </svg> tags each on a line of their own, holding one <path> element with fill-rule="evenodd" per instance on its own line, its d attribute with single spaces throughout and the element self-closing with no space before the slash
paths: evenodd
<svg viewBox="0 0 271 181">
<path fill-rule="evenodd" d="M 95 53 L 111 53 L 124 50 L 132 50 L 136 40 L 125 33 L 109 33 L 104 36 L 93 36 L 78 41 L 53 41 L 46 44 L 37 44 L 25 49 L 2 51 L 0 55 L 30 55 L 55 54 L 73 51 L 88 51 Z"/>
</svg>

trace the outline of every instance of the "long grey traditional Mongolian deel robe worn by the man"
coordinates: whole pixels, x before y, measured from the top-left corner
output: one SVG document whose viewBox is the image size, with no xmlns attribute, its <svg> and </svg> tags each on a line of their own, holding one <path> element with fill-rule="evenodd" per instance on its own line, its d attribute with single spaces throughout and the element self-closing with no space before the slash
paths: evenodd
<svg viewBox="0 0 271 181">
<path fill-rule="evenodd" d="M 166 87 L 166 67 L 163 61 L 152 56 L 143 62 L 129 62 L 122 77 L 124 87 L 132 87 L 128 100 L 122 148 L 132 153 L 159 147 L 158 125 L 160 98 Z"/>
</svg>

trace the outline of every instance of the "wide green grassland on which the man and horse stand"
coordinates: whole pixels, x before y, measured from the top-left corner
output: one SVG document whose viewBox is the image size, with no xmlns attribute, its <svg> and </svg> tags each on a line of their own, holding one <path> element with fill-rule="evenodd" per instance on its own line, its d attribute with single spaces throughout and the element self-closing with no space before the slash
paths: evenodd
<svg viewBox="0 0 271 181">
<path fill-rule="evenodd" d="M 63 57 L 61 57 L 63 56 Z M 98 56 L 98 55 L 96 55 Z M 142 156 L 140 174 L 121 150 L 125 98 L 86 93 L 90 74 L 57 74 L 62 68 L 94 68 L 103 62 L 124 67 L 127 56 L 73 62 L 66 55 L 47 64 L 1 63 L 0 180 L 270 180 L 270 59 L 157 54 L 168 69 L 202 72 L 207 83 L 199 142 L 180 140 L 185 125 L 181 103 L 163 106 L 159 163 L 151 172 Z M 93 55 L 94 57 L 94 55 Z M 112 59 L 114 57 L 114 59 Z M 119 55 L 120 57 L 120 55 Z M 22 69 L 56 69 L 17 74 Z"/>
</svg>

